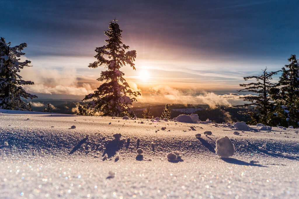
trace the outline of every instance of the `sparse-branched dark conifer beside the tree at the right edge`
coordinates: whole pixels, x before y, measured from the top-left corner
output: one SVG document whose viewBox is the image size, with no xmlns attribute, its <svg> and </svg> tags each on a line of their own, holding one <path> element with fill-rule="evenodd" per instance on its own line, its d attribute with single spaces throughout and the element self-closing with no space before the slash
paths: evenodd
<svg viewBox="0 0 299 199">
<path fill-rule="evenodd" d="M 262 75 L 244 77 L 244 80 L 255 79 L 256 82 L 251 82 L 248 84 L 240 84 L 244 89 L 238 90 L 238 92 L 249 92 L 254 93 L 253 95 L 246 95 L 240 97 L 243 101 L 248 101 L 249 103 L 243 105 L 237 105 L 234 107 L 249 107 L 253 106 L 253 109 L 246 109 L 241 113 L 248 115 L 251 118 L 249 124 L 268 124 L 268 115 L 274 110 L 274 104 L 270 98 L 269 90 L 276 86 L 276 84 L 271 83 L 272 76 L 277 74 L 279 71 L 267 72 L 267 67 L 262 70 Z"/>
</svg>

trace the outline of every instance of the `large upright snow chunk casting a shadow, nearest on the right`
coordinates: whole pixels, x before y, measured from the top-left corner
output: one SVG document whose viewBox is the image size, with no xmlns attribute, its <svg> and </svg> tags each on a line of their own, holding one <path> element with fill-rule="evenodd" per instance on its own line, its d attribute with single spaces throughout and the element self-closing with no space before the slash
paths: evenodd
<svg viewBox="0 0 299 199">
<path fill-rule="evenodd" d="M 216 154 L 220 157 L 230 157 L 234 155 L 235 148 L 231 140 L 225 136 L 216 141 Z"/>
</svg>

